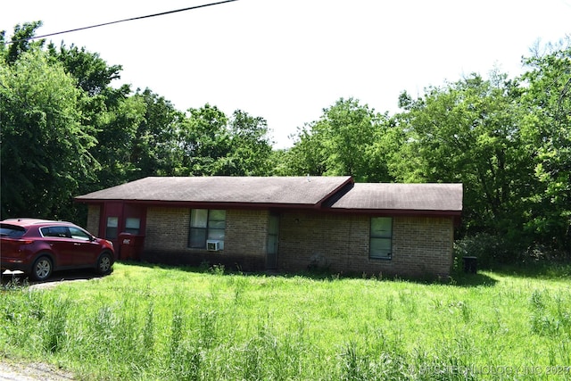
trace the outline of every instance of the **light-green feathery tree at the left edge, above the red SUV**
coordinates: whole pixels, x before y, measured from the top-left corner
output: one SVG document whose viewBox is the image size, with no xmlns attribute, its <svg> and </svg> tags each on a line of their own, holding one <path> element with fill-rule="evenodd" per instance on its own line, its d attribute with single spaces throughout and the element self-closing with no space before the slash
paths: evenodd
<svg viewBox="0 0 571 381">
<path fill-rule="evenodd" d="M 79 181 L 97 167 L 95 131 L 80 123 L 75 80 L 45 52 L 0 66 L 2 215 L 66 216 Z"/>
</svg>

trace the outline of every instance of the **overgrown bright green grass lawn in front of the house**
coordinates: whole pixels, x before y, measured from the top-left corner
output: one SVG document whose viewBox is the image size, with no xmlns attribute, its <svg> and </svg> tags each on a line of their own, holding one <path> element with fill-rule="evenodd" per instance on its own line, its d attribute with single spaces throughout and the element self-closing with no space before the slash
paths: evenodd
<svg viewBox="0 0 571 381">
<path fill-rule="evenodd" d="M 0 291 L 0 355 L 81 379 L 571 378 L 570 268 L 441 283 L 116 263 Z"/>
</svg>

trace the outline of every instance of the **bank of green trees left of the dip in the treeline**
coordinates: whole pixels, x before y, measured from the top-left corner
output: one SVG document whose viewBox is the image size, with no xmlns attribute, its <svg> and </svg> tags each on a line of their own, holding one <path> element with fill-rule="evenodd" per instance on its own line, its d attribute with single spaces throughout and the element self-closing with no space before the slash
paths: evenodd
<svg viewBox="0 0 571 381">
<path fill-rule="evenodd" d="M 208 104 L 186 115 L 150 89 L 131 95 L 112 87 L 120 65 L 30 42 L 40 25 L 17 26 L 0 49 L 3 218 L 77 219 L 73 196 L 146 176 L 270 173 L 266 120 Z"/>
</svg>

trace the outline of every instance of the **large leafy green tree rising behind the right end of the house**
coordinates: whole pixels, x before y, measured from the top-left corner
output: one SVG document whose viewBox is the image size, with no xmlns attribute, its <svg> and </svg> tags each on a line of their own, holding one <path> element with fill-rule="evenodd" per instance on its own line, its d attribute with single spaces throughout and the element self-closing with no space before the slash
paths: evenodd
<svg viewBox="0 0 571 381">
<path fill-rule="evenodd" d="M 417 167 L 409 170 L 414 177 L 463 183 L 468 231 L 489 230 L 514 242 L 525 238 L 525 201 L 534 187 L 518 96 L 517 82 L 503 74 L 492 72 L 489 80 L 473 74 L 431 87 L 417 101 L 401 96 L 407 102 L 401 102 L 406 111 L 400 116 L 409 134 L 403 155 Z"/>
</svg>

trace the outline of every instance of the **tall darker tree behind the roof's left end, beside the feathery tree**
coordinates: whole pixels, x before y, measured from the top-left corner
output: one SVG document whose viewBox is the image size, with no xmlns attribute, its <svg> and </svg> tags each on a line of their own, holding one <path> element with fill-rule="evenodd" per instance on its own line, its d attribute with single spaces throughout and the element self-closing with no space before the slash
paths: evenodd
<svg viewBox="0 0 571 381">
<path fill-rule="evenodd" d="M 85 47 L 68 48 L 62 44 L 58 49 L 50 44 L 47 53 L 52 62 L 62 65 L 76 79 L 81 94 L 81 123 L 93 129 L 98 142 L 90 153 L 101 167 L 95 178 L 81 183 L 80 192 L 137 178 L 137 168 L 130 159 L 138 125 L 145 116 L 145 103 L 129 97 L 129 86 L 111 86 L 114 79 L 120 78 L 121 66 L 109 66 L 99 54 L 88 52 Z"/>
</svg>

